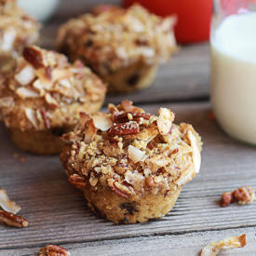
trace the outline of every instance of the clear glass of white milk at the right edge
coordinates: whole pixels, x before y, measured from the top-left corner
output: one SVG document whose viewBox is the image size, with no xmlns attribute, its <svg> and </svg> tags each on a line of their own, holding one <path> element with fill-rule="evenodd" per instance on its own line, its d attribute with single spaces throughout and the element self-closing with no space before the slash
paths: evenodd
<svg viewBox="0 0 256 256">
<path fill-rule="evenodd" d="M 210 36 L 213 111 L 226 133 L 256 145 L 255 1 L 217 0 L 215 9 Z"/>
</svg>

